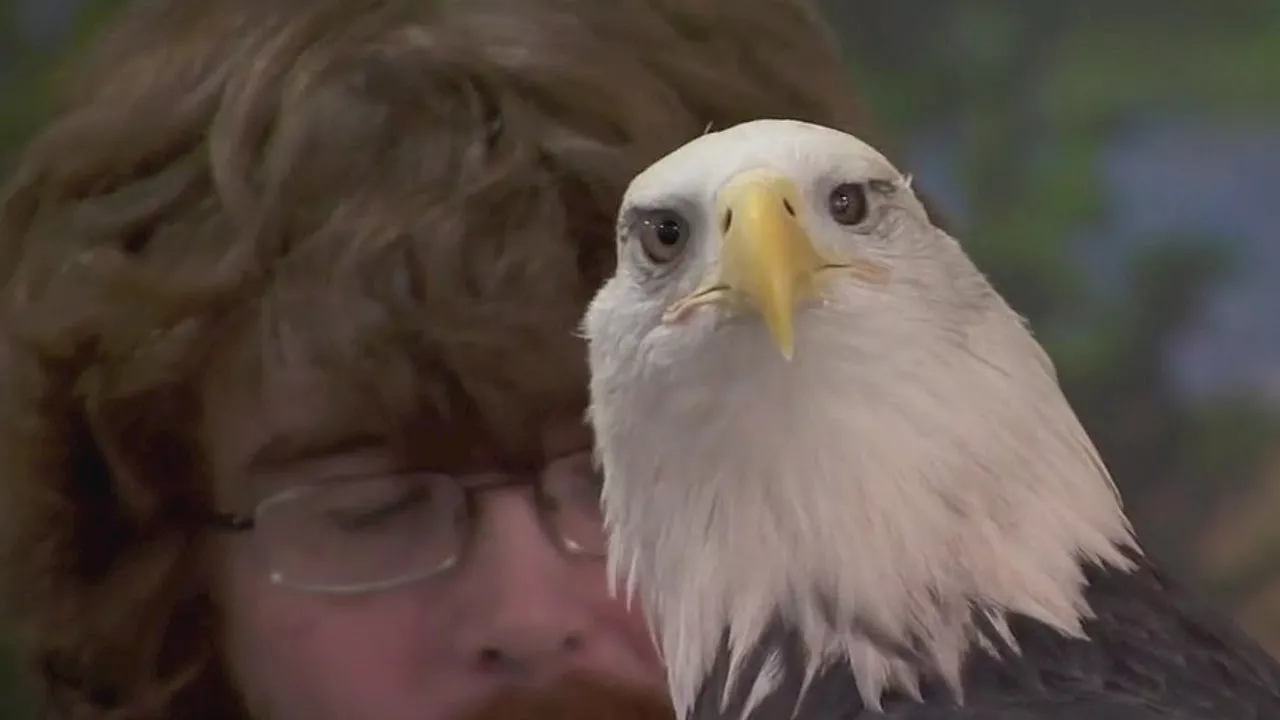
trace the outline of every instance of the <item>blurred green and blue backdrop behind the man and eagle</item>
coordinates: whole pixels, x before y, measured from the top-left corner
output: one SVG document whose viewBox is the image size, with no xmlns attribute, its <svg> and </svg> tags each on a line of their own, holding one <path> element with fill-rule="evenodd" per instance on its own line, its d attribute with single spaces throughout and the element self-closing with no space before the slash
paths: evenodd
<svg viewBox="0 0 1280 720">
<path fill-rule="evenodd" d="M 0 0 L 0 172 L 119 5 Z M 824 9 L 879 140 L 1030 319 L 1149 548 L 1280 653 L 1280 3 Z"/>
</svg>

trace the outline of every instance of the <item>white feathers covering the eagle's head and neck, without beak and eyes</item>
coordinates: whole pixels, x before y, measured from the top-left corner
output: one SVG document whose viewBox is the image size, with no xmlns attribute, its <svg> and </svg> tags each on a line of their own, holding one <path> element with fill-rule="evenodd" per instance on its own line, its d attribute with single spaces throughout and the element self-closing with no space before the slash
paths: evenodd
<svg viewBox="0 0 1280 720">
<path fill-rule="evenodd" d="M 714 275 L 722 190 L 753 172 L 794 183 L 824 256 L 887 270 L 797 309 L 790 361 L 754 314 L 666 318 Z M 844 183 L 870 188 L 854 225 L 828 213 Z M 659 217 L 684 238 L 654 260 Z M 1135 548 L 1119 497 L 1046 354 L 884 156 L 800 122 L 731 127 L 636 177 L 618 232 L 584 323 L 590 420 L 611 573 L 640 594 L 681 715 L 723 633 L 741 660 L 780 614 L 806 670 L 847 659 L 872 707 L 924 673 L 957 684 L 987 642 L 972 607 L 1082 633 L 1080 562 L 1128 568 Z M 884 638 L 924 643 L 932 667 Z"/>
</svg>

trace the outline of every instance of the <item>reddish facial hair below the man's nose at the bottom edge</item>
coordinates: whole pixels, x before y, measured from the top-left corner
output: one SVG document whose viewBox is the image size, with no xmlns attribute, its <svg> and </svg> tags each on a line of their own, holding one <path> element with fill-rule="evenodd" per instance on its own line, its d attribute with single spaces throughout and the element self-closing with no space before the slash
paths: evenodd
<svg viewBox="0 0 1280 720">
<path fill-rule="evenodd" d="M 593 676 L 568 676 L 540 688 L 509 688 L 465 720 L 675 720 L 671 701 Z"/>
</svg>

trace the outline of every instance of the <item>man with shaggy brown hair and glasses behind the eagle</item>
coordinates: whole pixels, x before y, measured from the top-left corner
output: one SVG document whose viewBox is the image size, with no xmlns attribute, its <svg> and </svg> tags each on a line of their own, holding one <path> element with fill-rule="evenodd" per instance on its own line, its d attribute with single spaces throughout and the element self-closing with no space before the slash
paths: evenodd
<svg viewBox="0 0 1280 720">
<path fill-rule="evenodd" d="M 0 211 L 0 585 L 46 716 L 663 692 L 576 327 L 659 155 L 865 135 L 814 10 L 172 0 L 78 81 Z"/>
</svg>

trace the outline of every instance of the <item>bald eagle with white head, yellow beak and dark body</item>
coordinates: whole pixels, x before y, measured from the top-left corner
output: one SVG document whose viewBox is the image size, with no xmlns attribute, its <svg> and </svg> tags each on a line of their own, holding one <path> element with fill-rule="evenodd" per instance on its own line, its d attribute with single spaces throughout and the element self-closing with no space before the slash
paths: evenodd
<svg viewBox="0 0 1280 720">
<path fill-rule="evenodd" d="M 631 182 L 617 250 L 589 418 L 681 717 L 1280 719 L 1276 661 L 1143 551 L 1050 359 L 881 152 L 704 135 Z"/>
</svg>

